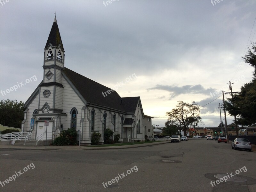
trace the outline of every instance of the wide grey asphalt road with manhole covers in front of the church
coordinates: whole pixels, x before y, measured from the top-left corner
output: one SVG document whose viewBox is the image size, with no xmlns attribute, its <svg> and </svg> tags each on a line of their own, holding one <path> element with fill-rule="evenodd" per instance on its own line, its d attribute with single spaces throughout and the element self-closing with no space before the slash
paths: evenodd
<svg viewBox="0 0 256 192">
<path fill-rule="evenodd" d="M 113 150 L 0 149 L 0 191 L 255 192 L 255 165 L 255 152 L 204 138 Z M 227 173 L 233 180 L 217 184 L 214 175 Z"/>
</svg>

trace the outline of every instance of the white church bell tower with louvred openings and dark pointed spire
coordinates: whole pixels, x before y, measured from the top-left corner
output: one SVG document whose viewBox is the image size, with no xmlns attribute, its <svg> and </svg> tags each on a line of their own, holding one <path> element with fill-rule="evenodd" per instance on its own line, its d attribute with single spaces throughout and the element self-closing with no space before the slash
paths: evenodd
<svg viewBox="0 0 256 192">
<path fill-rule="evenodd" d="M 44 47 L 44 78 L 40 87 L 38 102 L 39 113 L 62 113 L 62 70 L 64 70 L 64 48 L 60 37 L 60 31 L 56 16 Z"/>
</svg>

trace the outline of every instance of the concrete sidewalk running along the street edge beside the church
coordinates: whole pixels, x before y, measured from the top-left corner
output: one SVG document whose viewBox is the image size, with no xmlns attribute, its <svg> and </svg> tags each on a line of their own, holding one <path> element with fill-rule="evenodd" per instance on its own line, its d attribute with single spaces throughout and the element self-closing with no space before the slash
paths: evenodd
<svg viewBox="0 0 256 192">
<path fill-rule="evenodd" d="M 21 147 L 21 146 L 12 146 L 12 145 L 0 145 L 0 149 L 34 149 L 34 150 L 102 150 L 102 149 L 127 149 L 127 148 L 138 148 L 138 147 L 147 147 L 152 145 L 159 145 L 164 143 L 170 143 L 171 141 L 161 141 L 156 143 L 143 143 L 133 145 L 119 145 L 111 147 L 85 147 L 85 146 L 38 146 L 38 147 Z"/>
</svg>

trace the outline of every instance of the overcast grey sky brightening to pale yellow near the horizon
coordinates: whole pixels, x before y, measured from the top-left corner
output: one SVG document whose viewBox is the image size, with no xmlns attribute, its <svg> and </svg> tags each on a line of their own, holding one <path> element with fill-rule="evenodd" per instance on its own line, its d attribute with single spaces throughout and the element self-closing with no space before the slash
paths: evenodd
<svg viewBox="0 0 256 192">
<path fill-rule="evenodd" d="M 252 80 L 241 58 L 256 42 L 255 9 L 255 0 L 0 2 L 0 91 L 29 82 L 0 100 L 25 102 L 42 81 L 56 11 L 65 67 L 111 88 L 123 81 L 118 94 L 140 96 L 144 114 L 162 127 L 178 100 L 204 106 L 229 92 L 229 81 L 239 91 Z M 202 126 L 220 124 L 219 99 L 201 108 Z"/>
</svg>

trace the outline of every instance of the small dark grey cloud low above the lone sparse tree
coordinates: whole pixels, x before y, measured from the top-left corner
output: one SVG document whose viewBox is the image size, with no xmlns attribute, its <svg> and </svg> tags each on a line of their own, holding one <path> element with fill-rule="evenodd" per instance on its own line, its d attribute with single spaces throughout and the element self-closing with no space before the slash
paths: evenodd
<svg viewBox="0 0 256 192">
<path fill-rule="evenodd" d="M 171 100 L 173 97 L 177 97 L 181 94 L 204 94 L 209 95 L 210 92 L 215 92 L 215 89 L 208 88 L 205 89 L 201 84 L 197 85 L 184 85 L 181 87 L 173 86 L 173 85 L 159 85 L 157 84 L 155 87 L 148 88 L 148 91 L 150 90 L 164 90 L 170 92 L 170 98 Z M 159 98 L 161 99 L 161 98 Z"/>
</svg>

